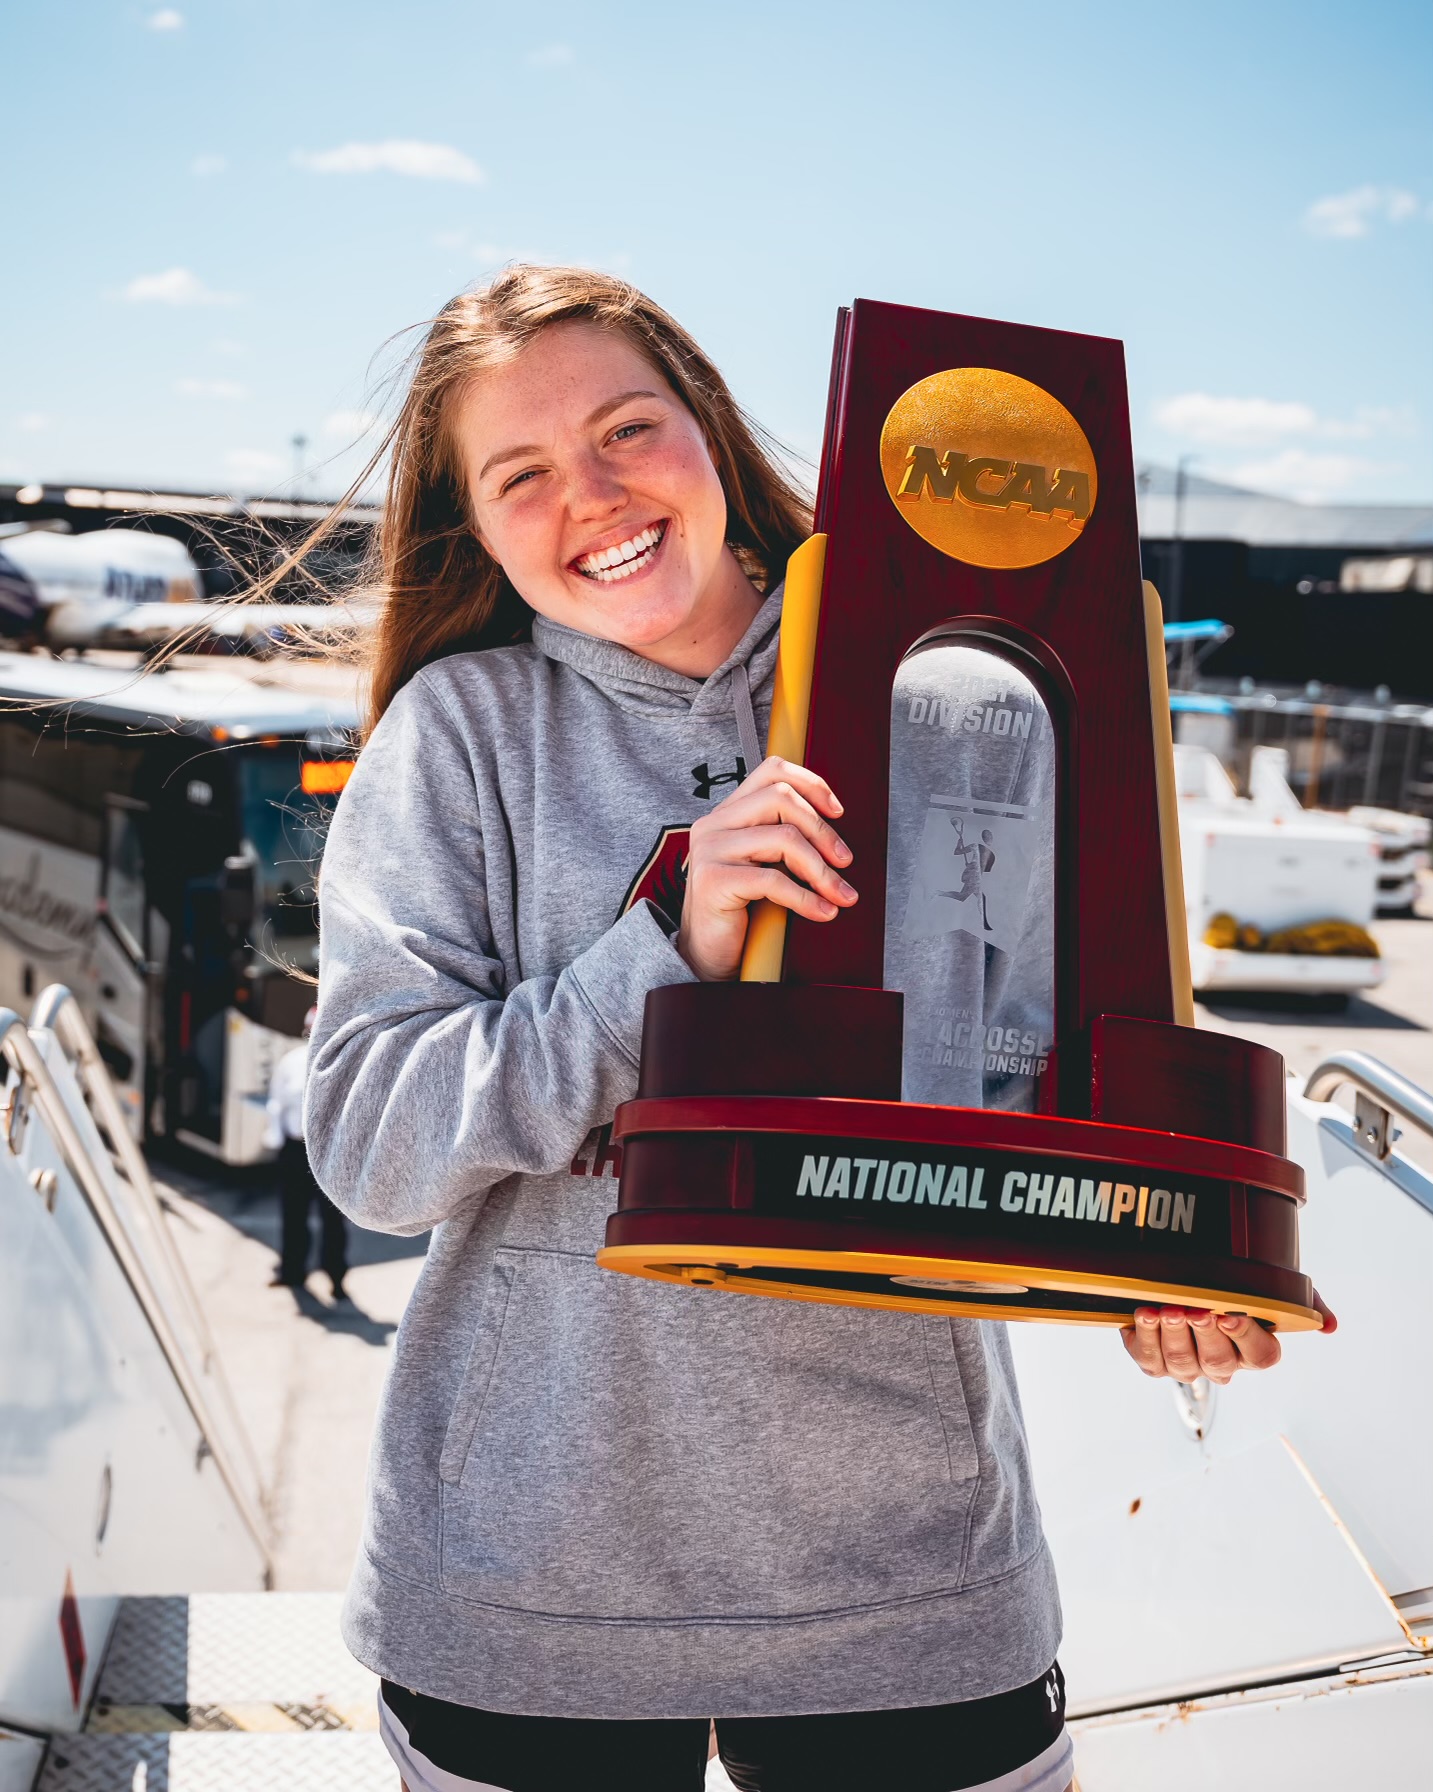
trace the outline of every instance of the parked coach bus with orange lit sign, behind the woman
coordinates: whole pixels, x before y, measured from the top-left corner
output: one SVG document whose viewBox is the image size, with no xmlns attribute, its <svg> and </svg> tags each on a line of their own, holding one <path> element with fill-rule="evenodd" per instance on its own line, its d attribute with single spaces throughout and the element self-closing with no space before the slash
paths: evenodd
<svg viewBox="0 0 1433 1792">
<path fill-rule="evenodd" d="M 0 652 L 0 1007 L 66 984 L 136 1138 L 265 1156 L 356 720 L 340 667 Z"/>
</svg>

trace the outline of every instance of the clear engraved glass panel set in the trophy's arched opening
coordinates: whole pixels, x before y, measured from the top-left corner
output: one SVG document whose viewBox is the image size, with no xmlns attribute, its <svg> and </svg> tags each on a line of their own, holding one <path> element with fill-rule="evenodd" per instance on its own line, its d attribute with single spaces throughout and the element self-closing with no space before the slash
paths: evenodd
<svg viewBox="0 0 1433 1792">
<path fill-rule="evenodd" d="M 903 1098 L 1030 1113 L 1055 1023 L 1055 729 L 985 647 L 910 652 L 890 708 L 885 987 Z"/>
</svg>

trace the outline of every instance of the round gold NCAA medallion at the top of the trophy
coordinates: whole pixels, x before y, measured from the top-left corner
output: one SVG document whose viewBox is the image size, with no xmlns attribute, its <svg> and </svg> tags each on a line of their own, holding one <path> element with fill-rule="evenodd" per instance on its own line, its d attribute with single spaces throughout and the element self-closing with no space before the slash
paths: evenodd
<svg viewBox="0 0 1433 1792">
<path fill-rule="evenodd" d="M 949 367 L 901 392 L 881 473 L 915 534 L 971 566 L 1039 566 L 1094 509 L 1085 432 L 1059 398 L 994 367 Z"/>
</svg>

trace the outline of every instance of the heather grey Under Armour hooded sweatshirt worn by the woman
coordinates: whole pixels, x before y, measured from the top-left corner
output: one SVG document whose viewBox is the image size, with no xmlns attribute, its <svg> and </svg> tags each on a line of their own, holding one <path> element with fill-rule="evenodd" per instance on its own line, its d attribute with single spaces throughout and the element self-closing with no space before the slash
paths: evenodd
<svg viewBox="0 0 1433 1792">
<path fill-rule="evenodd" d="M 344 1634 L 433 1697 L 849 1711 L 1055 1656 L 1003 1326 L 593 1262 L 643 1000 L 691 980 L 654 901 L 743 771 L 736 667 L 765 731 L 779 607 L 706 681 L 543 620 L 442 659 L 333 819 L 308 1149 L 360 1224 L 433 1228 Z"/>
</svg>

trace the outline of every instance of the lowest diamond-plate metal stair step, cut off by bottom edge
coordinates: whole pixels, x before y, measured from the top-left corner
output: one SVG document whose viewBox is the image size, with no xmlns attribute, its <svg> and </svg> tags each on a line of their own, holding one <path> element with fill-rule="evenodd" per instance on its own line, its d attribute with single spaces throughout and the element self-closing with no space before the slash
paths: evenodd
<svg viewBox="0 0 1433 1792">
<path fill-rule="evenodd" d="M 56 1736 L 36 1792 L 396 1792 L 378 1735 Z"/>
</svg>

